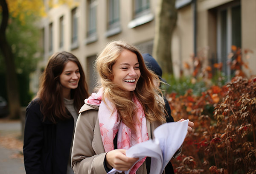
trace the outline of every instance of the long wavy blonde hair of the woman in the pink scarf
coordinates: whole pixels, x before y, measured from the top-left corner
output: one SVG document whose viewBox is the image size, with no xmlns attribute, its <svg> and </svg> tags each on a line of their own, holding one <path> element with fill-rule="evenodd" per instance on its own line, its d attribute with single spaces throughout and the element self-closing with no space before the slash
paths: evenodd
<svg viewBox="0 0 256 174">
<path fill-rule="evenodd" d="M 103 99 L 107 97 L 116 106 L 123 123 L 134 130 L 135 104 L 129 96 L 125 95 L 122 89 L 113 83 L 112 66 L 125 49 L 135 53 L 140 64 L 140 79 L 137 82 L 136 89 L 131 92 L 131 96 L 138 98 L 144 109 L 145 117 L 150 122 L 164 122 L 164 102 L 163 98 L 160 97 L 163 94 L 160 89 L 154 86 L 154 80 L 159 81 L 159 78 L 146 68 L 143 57 L 137 48 L 124 41 L 108 43 L 96 59 L 96 70 L 101 77 L 101 87 L 104 89 Z"/>
</svg>

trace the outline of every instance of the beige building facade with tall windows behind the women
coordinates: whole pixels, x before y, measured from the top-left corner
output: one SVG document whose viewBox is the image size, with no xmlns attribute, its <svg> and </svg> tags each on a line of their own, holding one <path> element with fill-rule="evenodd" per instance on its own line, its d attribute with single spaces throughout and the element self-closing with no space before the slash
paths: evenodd
<svg viewBox="0 0 256 174">
<path fill-rule="evenodd" d="M 64 1 L 64 0 L 62 0 Z M 57 51 L 70 51 L 84 67 L 90 93 L 97 75 L 93 62 L 107 42 L 125 40 L 142 53 L 152 53 L 158 0 L 44 0 L 47 15 L 38 22 L 41 28 L 44 60 L 32 75 L 36 93 L 38 76 L 49 57 Z M 172 36 L 175 75 L 183 62 L 193 64 L 191 55 L 204 53 L 205 64 L 223 62 L 230 75 L 228 54 L 231 46 L 250 49 L 244 57 L 256 74 L 256 0 L 176 0 L 177 25 Z M 187 72 L 189 73 L 189 72 Z"/>
</svg>

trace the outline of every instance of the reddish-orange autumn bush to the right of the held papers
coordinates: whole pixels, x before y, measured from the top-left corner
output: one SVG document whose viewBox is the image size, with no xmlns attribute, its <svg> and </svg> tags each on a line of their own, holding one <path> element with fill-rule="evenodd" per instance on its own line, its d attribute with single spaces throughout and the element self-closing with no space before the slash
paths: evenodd
<svg viewBox="0 0 256 174">
<path fill-rule="evenodd" d="M 172 160 L 176 174 L 256 173 L 256 78 L 234 77 L 201 95 L 167 95 L 175 121 L 195 123 Z"/>
</svg>

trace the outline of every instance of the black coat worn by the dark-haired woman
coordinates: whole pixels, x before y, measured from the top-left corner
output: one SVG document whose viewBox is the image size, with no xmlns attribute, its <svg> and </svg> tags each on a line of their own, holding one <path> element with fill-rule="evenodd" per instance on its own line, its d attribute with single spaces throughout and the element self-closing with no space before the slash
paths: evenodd
<svg viewBox="0 0 256 174">
<path fill-rule="evenodd" d="M 74 119 L 43 122 L 38 99 L 26 108 L 24 165 L 26 174 L 67 174 Z M 71 165 L 71 164 L 69 164 Z"/>
</svg>

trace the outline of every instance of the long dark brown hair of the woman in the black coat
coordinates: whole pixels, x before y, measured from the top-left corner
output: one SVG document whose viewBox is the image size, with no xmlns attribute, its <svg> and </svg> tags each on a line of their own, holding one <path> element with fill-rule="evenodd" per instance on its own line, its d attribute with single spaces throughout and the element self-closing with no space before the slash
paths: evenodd
<svg viewBox="0 0 256 174">
<path fill-rule="evenodd" d="M 64 66 L 69 61 L 76 63 L 80 73 L 78 87 L 71 89 L 71 96 L 74 98 L 74 106 L 77 112 L 84 104 L 84 99 L 89 96 L 84 71 L 77 57 L 66 51 L 53 54 L 42 74 L 41 85 L 36 96 L 36 98 L 40 99 L 40 109 L 44 115 L 44 120 L 47 118 L 56 123 L 56 119 L 64 120 L 71 118 L 64 105 L 63 86 L 59 79 Z"/>
</svg>

